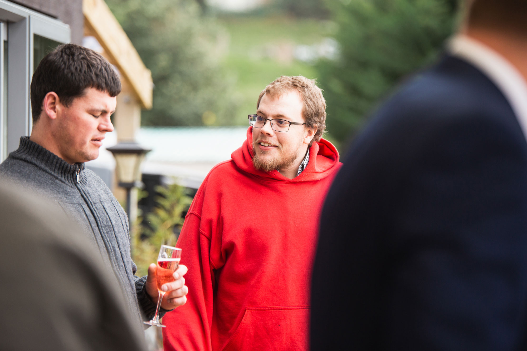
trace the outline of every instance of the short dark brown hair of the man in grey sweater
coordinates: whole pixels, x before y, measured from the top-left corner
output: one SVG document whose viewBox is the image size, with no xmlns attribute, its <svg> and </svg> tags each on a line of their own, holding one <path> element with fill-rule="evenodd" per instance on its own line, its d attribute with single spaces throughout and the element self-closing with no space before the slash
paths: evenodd
<svg viewBox="0 0 527 351">
<path fill-rule="evenodd" d="M 55 92 L 61 103 L 68 106 L 89 87 L 113 97 L 121 92 L 121 80 L 106 58 L 95 51 L 75 44 L 57 46 L 33 73 L 30 89 L 33 123 L 40 118 L 47 93 Z"/>
</svg>

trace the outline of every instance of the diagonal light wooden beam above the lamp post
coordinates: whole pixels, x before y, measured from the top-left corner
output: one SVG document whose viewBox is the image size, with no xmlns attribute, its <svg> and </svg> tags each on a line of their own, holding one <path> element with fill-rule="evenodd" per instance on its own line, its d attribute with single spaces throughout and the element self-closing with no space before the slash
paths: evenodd
<svg viewBox="0 0 527 351">
<path fill-rule="evenodd" d="M 152 73 L 104 0 L 83 0 L 84 26 L 99 41 L 138 96 L 141 107 L 152 108 Z"/>
</svg>

